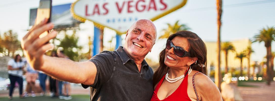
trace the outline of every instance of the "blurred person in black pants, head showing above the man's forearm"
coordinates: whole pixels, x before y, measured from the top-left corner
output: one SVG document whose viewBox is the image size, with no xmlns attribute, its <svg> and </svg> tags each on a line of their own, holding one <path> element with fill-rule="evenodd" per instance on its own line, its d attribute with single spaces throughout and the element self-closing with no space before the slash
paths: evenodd
<svg viewBox="0 0 275 101">
<path fill-rule="evenodd" d="M 52 52 L 52 57 L 57 57 L 56 52 Z M 56 79 L 50 76 L 50 91 L 51 97 L 56 97 L 57 90 L 56 90 Z"/>
</svg>

